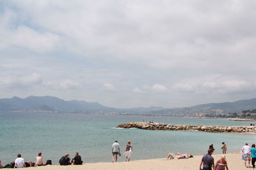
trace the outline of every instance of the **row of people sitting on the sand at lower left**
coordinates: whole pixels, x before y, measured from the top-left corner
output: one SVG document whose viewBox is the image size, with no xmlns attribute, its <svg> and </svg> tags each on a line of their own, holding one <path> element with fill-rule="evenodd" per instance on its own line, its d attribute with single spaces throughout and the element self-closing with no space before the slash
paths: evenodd
<svg viewBox="0 0 256 170">
<path fill-rule="evenodd" d="M 65 153 L 65 156 L 61 157 L 60 159 L 60 165 L 61 166 L 68 166 L 68 165 L 81 165 L 83 164 L 83 161 L 81 159 L 81 156 L 79 153 L 75 153 L 74 159 L 69 158 L 69 154 Z M 10 164 L 6 164 L 5 166 L 2 165 L 0 160 L 0 169 L 1 168 L 20 168 L 20 167 L 36 167 L 36 166 L 47 166 L 51 165 L 52 160 L 47 160 L 44 164 L 42 153 L 38 153 L 38 156 L 36 157 L 36 162 L 33 162 L 32 160 L 29 160 L 28 162 L 25 162 L 25 160 L 21 157 L 20 153 L 17 155 L 17 159 L 15 159 L 15 162 L 11 162 Z"/>
</svg>

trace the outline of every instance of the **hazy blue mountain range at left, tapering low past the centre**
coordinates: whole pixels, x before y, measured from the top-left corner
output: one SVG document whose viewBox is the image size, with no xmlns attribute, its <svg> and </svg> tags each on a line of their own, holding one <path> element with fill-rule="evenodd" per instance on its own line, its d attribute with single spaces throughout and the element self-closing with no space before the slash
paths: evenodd
<svg viewBox="0 0 256 170">
<path fill-rule="evenodd" d="M 117 113 L 147 113 L 163 110 L 161 107 L 118 109 L 109 108 L 97 102 L 65 101 L 51 96 L 29 96 L 24 99 L 12 97 L 0 99 L 0 111 L 56 111 L 56 112 L 117 112 Z"/>
</svg>

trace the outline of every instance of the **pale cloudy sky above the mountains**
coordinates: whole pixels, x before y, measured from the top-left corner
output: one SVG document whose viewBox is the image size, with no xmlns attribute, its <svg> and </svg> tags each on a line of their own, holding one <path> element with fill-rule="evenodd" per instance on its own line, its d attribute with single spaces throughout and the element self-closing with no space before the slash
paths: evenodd
<svg viewBox="0 0 256 170">
<path fill-rule="evenodd" d="M 256 1 L 0 1 L 0 98 L 115 108 L 256 97 Z"/>
</svg>

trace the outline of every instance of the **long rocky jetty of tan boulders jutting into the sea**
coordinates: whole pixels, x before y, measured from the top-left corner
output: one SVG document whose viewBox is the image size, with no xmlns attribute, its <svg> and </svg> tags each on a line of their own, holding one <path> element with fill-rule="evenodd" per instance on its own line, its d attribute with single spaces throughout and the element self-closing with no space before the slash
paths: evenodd
<svg viewBox="0 0 256 170">
<path fill-rule="evenodd" d="M 171 125 L 147 122 L 129 122 L 116 128 L 137 128 L 158 131 L 203 131 L 203 132 L 256 132 L 255 126 L 205 126 L 205 125 Z"/>
</svg>

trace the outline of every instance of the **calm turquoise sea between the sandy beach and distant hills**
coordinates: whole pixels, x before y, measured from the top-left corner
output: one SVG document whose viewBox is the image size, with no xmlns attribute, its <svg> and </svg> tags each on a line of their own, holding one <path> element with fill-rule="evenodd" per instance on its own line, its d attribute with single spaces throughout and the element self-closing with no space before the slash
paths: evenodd
<svg viewBox="0 0 256 170">
<path fill-rule="evenodd" d="M 44 162 L 51 159 L 53 164 L 58 164 L 65 153 L 74 157 L 74 153 L 79 152 L 84 163 L 110 162 L 115 139 L 122 151 L 127 141 L 132 141 L 132 160 L 163 158 L 169 152 L 201 155 L 210 144 L 214 144 L 215 153 L 221 153 L 223 141 L 227 143 L 228 152 L 239 152 L 244 143 L 255 143 L 255 134 L 115 129 L 118 124 L 142 119 L 184 125 L 251 124 L 211 118 L 0 112 L 0 159 L 7 164 L 21 153 L 25 160 L 35 161 L 36 154 L 42 152 Z M 124 161 L 124 156 L 119 159 Z"/>
</svg>

